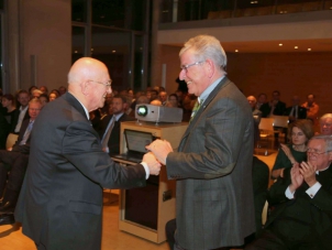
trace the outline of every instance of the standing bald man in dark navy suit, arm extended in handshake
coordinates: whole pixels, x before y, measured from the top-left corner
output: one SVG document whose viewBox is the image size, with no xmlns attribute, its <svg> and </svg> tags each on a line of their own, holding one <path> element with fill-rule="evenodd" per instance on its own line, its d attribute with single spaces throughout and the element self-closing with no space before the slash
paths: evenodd
<svg viewBox="0 0 332 250">
<path fill-rule="evenodd" d="M 102 187 L 143 186 L 161 164 L 147 153 L 141 164 L 120 166 L 102 151 L 89 111 L 101 108 L 112 91 L 103 63 L 78 59 L 68 83 L 68 93 L 47 104 L 33 127 L 15 219 L 37 249 L 96 250 L 101 247 Z"/>
</svg>

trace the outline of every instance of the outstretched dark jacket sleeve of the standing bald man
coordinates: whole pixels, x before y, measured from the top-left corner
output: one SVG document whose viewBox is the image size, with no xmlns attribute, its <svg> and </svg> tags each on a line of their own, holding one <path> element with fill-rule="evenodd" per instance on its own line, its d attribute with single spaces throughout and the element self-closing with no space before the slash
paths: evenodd
<svg viewBox="0 0 332 250">
<path fill-rule="evenodd" d="M 63 154 L 84 175 L 107 188 L 131 188 L 145 185 L 141 164 L 122 166 L 101 150 L 89 122 L 71 122 L 62 141 Z"/>
</svg>

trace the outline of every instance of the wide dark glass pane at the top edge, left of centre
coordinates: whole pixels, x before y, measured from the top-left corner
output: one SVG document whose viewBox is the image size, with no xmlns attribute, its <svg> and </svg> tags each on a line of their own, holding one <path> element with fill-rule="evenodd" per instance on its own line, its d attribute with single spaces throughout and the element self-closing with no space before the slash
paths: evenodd
<svg viewBox="0 0 332 250">
<path fill-rule="evenodd" d="M 148 0 L 92 0 L 92 23 L 143 31 Z"/>
</svg>

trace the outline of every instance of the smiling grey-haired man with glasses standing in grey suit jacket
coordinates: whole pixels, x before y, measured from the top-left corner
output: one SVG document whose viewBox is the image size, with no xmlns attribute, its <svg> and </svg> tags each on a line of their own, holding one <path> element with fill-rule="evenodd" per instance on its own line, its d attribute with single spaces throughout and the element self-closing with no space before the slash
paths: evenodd
<svg viewBox="0 0 332 250">
<path fill-rule="evenodd" d="M 179 55 L 179 78 L 198 102 L 178 152 L 162 140 L 147 146 L 177 180 L 175 249 L 241 246 L 255 231 L 252 110 L 225 76 L 226 56 L 215 37 L 192 37 Z"/>
</svg>

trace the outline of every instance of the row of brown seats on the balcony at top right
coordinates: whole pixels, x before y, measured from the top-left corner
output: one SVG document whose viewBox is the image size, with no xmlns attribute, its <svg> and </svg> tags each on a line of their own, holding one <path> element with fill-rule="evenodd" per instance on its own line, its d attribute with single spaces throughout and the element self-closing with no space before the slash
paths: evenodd
<svg viewBox="0 0 332 250">
<path fill-rule="evenodd" d="M 303 11 L 318 11 L 318 10 L 332 10 L 332 1 L 316 1 L 303 2 L 296 4 L 280 4 L 270 7 L 246 8 L 236 9 L 234 12 L 235 18 L 253 17 L 253 15 L 268 15 L 268 14 L 287 14 Z M 213 19 L 229 19 L 233 17 L 233 10 L 210 11 L 208 14 L 209 20 Z"/>
</svg>

